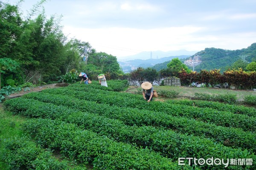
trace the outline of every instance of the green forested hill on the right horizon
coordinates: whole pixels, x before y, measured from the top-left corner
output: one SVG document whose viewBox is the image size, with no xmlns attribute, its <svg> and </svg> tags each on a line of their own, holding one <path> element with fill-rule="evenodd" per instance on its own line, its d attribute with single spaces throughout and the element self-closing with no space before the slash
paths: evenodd
<svg viewBox="0 0 256 170">
<path fill-rule="evenodd" d="M 202 63 L 201 65 L 195 66 L 195 71 L 200 71 L 204 69 L 213 70 L 215 68 L 224 71 L 227 68 L 230 68 L 230 66 L 233 65 L 234 62 L 241 59 L 241 57 L 239 57 L 241 55 L 247 56 L 245 60 L 248 62 L 256 60 L 256 43 L 253 43 L 248 48 L 243 48 L 240 50 L 205 48 L 204 51 L 204 54 L 200 54 Z M 167 64 L 169 62 L 170 61 L 154 65 L 153 68 L 159 71 L 160 69 L 167 68 Z M 192 67 L 190 67 L 190 69 L 192 69 Z"/>
</svg>

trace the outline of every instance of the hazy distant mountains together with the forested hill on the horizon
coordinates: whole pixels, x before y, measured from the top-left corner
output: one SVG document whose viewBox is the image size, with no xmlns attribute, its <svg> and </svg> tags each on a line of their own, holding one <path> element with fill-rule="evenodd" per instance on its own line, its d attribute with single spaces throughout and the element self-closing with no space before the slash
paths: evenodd
<svg viewBox="0 0 256 170">
<path fill-rule="evenodd" d="M 167 64 L 173 58 L 179 58 L 182 62 L 189 59 L 192 55 L 196 54 L 198 51 L 152 51 L 143 52 L 133 56 L 128 56 L 130 60 L 125 62 L 119 61 L 119 65 L 122 67 L 123 72 L 128 73 L 138 67 L 148 68 L 152 67 L 159 71 L 160 69 L 167 68 Z M 157 55 L 158 54 L 158 55 Z M 177 54 L 177 55 L 175 55 Z M 165 55 L 167 55 L 165 57 Z M 150 57 L 152 56 L 152 59 Z M 221 69 L 221 71 L 229 68 L 234 62 L 239 59 L 244 59 L 246 63 L 256 61 L 256 43 L 253 43 L 247 48 L 242 48 L 240 50 L 226 50 L 221 48 L 205 48 L 204 54 L 201 54 L 202 62 L 200 65 L 195 65 L 195 71 Z M 158 58 L 158 59 L 157 59 Z M 192 67 L 189 67 L 192 69 Z"/>
</svg>

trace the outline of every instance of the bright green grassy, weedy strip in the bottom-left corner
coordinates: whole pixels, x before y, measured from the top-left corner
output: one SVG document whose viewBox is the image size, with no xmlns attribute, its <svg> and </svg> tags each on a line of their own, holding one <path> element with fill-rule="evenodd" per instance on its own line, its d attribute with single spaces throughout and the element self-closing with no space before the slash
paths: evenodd
<svg viewBox="0 0 256 170">
<path fill-rule="evenodd" d="M 26 120 L 25 117 L 14 116 L 9 111 L 5 111 L 3 105 L 0 105 L 0 170 L 12 169 L 12 167 L 16 166 L 16 163 L 18 164 L 16 167 L 22 166 L 21 169 L 23 169 L 25 165 L 22 162 L 27 159 L 29 163 L 35 164 L 35 169 L 92 169 L 89 165 L 85 167 L 82 164 L 76 165 L 72 160 L 62 159 L 59 154 L 52 154 L 50 151 L 38 147 L 32 140 L 27 139 L 21 129 L 23 122 Z M 18 145 L 21 147 L 6 150 L 6 144 L 8 148 Z M 30 157 L 30 159 L 28 157 Z M 37 159 L 34 159 L 35 157 Z M 7 158 L 9 165 L 2 160 L 3 158 Z"/>
</svg>

